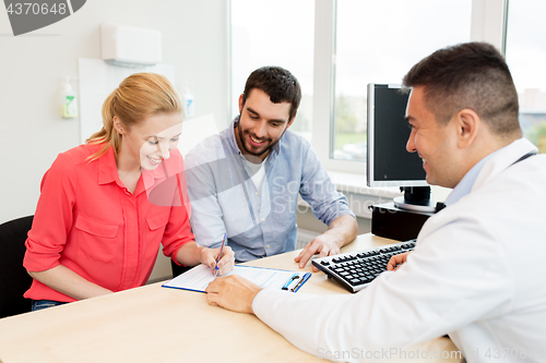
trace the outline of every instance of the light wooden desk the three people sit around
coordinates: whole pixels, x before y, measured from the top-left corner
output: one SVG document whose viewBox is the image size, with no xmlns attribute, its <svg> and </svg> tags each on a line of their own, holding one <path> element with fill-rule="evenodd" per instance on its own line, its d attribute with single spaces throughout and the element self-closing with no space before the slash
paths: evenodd
<svg viewBox="0 0 546 363">
<path fill-rule="evenodd" d="M 364 234 L 344 252 L 389 243 Z M 293 258 L 297 254 L 248 265 L 296 270 Z M 348 292 L 317 273 L 298 293 Z M 456 351 L 447 338 L 418 348 Z M 324 362 L 298 350 L 253 315 L 209 306 L 203 293 L 166 289 L 161 283 L 0 319 L 1 363 L 258 361 Z"/>
</svg>

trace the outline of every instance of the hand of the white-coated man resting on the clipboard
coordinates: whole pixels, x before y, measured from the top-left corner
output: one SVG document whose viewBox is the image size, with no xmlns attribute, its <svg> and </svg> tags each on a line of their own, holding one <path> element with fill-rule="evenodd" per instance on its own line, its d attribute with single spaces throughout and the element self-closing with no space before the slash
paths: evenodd
<svg viewBox="0 0 546 363">
<path fill-rule="evenodd" d="M 238 275 L 217 277 L 206 287 L 209 304 L 252 314 L 252 301 L 262 289 Z"/>
</svg>

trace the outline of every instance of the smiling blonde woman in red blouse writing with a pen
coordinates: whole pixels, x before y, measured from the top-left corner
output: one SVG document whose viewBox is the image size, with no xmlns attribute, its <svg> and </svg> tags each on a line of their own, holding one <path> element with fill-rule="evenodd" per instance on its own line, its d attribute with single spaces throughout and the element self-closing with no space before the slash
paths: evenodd
<svg viewBox="0 0 546 363">
<path fill-rule="evenodd" d="M 23 263 L 33 310 L 142 286 L 159 243 L 177 264 L 215 267 L 219 249 L 190 230 L 180 105 L 164 76 L 127 77 L 103 105 L 103 129 L 46 172 Z M 219 273 L 233 265 L 226 247 Z"/>
</svg>

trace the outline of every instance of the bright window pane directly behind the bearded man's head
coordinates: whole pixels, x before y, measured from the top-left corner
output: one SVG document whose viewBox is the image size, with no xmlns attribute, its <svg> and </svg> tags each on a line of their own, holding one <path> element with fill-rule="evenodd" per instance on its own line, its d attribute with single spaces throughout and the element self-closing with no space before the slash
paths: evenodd
<svg viewBox="0 0 546 363">
<path fill-rule="evenodd" d="M 232 0 L 232 116 L 252 71 L 280 65 L 301 85 L 301 104 L 290 126 L 311 141 L 314 0 Z"/>
</svg>

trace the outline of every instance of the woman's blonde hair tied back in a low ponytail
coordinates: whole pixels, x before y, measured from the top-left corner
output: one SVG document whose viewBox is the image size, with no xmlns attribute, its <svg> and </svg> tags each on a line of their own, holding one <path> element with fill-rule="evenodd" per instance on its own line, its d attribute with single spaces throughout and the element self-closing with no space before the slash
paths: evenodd
<svg viewBox="0 0 546 363">
<path fill-rule="evenodd" d="M 129 130 L 149 117 L 181 112 L 180 96 L 165 76 L 155 73 L 131 74 L 104 101 L 103 129 L 87 138 L 86 143 L 104 143 L 105 146 L 87 159 L 98 159 L 110 146 L 114 147 L 114 155 L 118 155 L 121 135 L 114 128 L 114 117 Z"/>
</svg>

